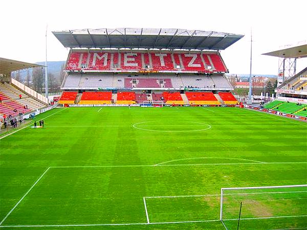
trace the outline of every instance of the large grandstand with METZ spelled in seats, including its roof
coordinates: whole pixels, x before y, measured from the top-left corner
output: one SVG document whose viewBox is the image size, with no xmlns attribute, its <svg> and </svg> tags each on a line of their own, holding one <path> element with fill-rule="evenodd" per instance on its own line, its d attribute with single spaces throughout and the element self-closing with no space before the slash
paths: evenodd
<svg viewBox="0 0 307 230">
<path fill-rule="evenodd" d="M 147 28 L 53 34 L 71 48 L 60 104 L 237 104 L 220 50 L 243 35 Z"/>
</svg>

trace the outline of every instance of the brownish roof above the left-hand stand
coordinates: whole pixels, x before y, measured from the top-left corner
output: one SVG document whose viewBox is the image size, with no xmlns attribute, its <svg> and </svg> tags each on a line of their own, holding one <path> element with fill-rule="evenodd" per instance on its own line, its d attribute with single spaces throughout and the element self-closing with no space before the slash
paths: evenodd
<svg viewBox="0 0 307 230">
<path fill-rule="evenodd" d="M 28 62 L 16 61 L 0 57 L 0 74 L 8 74 L 24 68 L 44 67 L 44 65 L 32 64 Z"/>
</svg>

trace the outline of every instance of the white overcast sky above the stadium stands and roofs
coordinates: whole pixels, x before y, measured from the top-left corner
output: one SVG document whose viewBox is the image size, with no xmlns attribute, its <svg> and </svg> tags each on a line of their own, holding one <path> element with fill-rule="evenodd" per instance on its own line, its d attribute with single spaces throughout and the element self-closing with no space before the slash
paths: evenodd
<svg viewBox="0 0 307 230">
<path fill-rule="evenodd" d="M 85 28 L 179 28 L 243 34 L 222 57 L 233 74 L 248 74 L 253 30 L 253 74 L 278 73 L 278 58 L 261 55 L 307 40 L 306 0 L 2 1 L 0 57 L 26 62 L 66 60 L 69 50 L 51 31 Z M 298 59 L 297 72 L 307 66 Z"/>
</svg>

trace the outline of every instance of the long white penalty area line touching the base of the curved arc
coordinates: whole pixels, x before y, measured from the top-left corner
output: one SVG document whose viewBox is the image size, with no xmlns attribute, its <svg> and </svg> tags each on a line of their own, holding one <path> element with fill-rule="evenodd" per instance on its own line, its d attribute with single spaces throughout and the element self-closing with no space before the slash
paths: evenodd
<svg viewBox="0 0 307 230">
<path fill-rule="evenodd" d="M 307 164 L 307 162 L 267 162 L 267 163 L 208 163 L 208 164 L 172 164 L 172 165 L 97 165 L 97 166 L 50 166 L 50 168 L 134 168 L 166 166 L 210 166 L 210 165 L 271 165 L 271 164 Z"/>
</svg>

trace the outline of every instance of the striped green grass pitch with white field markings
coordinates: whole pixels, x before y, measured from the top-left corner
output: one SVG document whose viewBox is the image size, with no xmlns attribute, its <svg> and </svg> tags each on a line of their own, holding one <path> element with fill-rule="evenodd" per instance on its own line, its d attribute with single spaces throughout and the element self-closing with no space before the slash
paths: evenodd
<svg viewBox="0 0 307 230">
<path fill-rule="evenodd" d="M 225 229 L 221 188 L 307 183 L 304 122 L 230 107 L 56 108 L 37 120 L 47 116 L 0 140 L 0 229 Z M 293 191 L 251 196 L 243 211 L 294 217 L 240 229 L 307 227 L 307 189 Z M 228 201 L 236 217 L 240 196 Z"/>
</svg>

